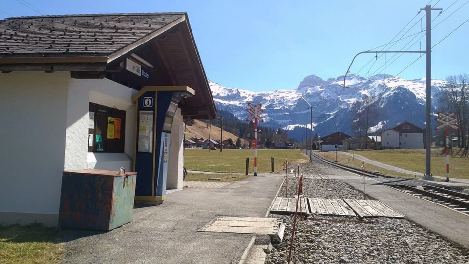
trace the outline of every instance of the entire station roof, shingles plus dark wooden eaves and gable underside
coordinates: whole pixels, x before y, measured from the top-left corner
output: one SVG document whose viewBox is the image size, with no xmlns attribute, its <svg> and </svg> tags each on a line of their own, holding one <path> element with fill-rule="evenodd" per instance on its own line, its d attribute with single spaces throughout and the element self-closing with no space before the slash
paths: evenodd
<svg viewBox="0 0 469 264">
<path fill-rule="evenodd" d="M 125 70 L 124 63 L 131 56 L 154 66 L 151 80 Z M 0 70 L 71 71 L 73 78 L 106 77 L 136 90 L 185 85 L 195 95 L 181 101 L 182 115 L 194 119 L 216 116 L 185 12 L 0 20 Z"/>
</svg>

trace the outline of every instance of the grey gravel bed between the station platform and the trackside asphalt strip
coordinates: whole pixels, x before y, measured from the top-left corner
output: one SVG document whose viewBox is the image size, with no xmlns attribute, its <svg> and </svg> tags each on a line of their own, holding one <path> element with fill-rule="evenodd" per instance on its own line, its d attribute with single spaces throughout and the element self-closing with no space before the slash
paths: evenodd
<svg viewBox="0 0 469 264">
<path fill-rule="evenodd" d="M 298 166 L 298 165 L 294 165 Z M 303 176 L 327 175 L 329 165 L 300 164 Z M 286 184 L 278 196 L 285 197 Z M 289 176 L 288 197 L 298 194 L 298 178 Z M 303 195 L 309 198 L 363 199 L 363 193 L 340 180 L 303 179 Z M 365 196 L 365 199 L 373 199 Z M 287 263 L 293 215 L 271 214 L 286 224 L 283 241 L 273 245 L 267 264 Z M 297 216 L 290 263 L 465 264 L 469 252 L 406 219 L 311 215 Z"/>
</svg>

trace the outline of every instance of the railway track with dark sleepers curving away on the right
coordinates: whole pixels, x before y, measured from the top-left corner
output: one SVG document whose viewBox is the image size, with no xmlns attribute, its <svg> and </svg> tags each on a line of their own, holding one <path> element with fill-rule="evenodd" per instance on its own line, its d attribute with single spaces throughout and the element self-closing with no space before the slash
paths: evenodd
<svg viewBox="0 0 469 264">
<path fill-rule="evenodd" d="M 364 173 L 364 175 L 368 177 L 402 180 L 401 178 L 397 178 L 394 176 L 389 176 L 389 175 L 385 175 L 385 174 L 381 174 L 377 172 L 371 172 L 371 171 L 366 171 L 366 170 L 365 172 L 363 172 L 359 168 L 355 168 L 355 167 L 351 167 L 351 166 L 347 166 L 343 164 L 338 164 L 337 162 L 332 162 L 330 160 L 324 159 L 316 154 L 312 154 L 312 157 L 314 157 L 315 159 L 321 162 L 325 162 L 334 167 L 338 167 L 349 172 L 354 172 L 354 173 L 361 174 L 361 175 L 363 175 Z M 440 188 L 436 186 L 427 185 L 425 183 L 423 184 L 422 181 L 416 181 L 416 180 L 406 181 L 405 185 L 396 185 L 396 184 L 391 185 L 391 184 L 386 184 L 386 183 L 384 184 L 391 188 L 404 192 L 406 194 L 413 195 L 415 197 L 422 198 L 427 201 L 434 202 L 441 206 L 445 206 L 447 208 L 469 215 L 469 195 L 468 194 L 464 194 L 464 193 L 453 191 L 453 190 L 446 189 L 446 188 Z"/>
</svg>

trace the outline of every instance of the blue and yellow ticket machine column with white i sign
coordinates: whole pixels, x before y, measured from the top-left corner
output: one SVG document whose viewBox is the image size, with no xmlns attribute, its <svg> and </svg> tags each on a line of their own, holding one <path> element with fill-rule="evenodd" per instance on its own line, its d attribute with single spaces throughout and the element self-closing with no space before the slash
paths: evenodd
<svg viewBox="0 0 469 264">
<path fill-rule="evenodd" d="M 164 201 L 172 121 L 180 100 L 193 95 L 187 86 L 147 86 L 132 97 L 137 102 L 135 201 L 154 205 Z"/>
</svg>

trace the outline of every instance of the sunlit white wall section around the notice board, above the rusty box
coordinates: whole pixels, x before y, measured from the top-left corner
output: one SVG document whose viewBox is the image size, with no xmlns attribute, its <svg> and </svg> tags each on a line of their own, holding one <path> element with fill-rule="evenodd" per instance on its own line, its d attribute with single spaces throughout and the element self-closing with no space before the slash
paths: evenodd
<svg viewBox="0 0 469 264">
<path fill-rule="evenodd" d="M 133 168 L 135 145 L 135 110 L 131 97 L 137 91 L 109 79 L 72 79 L 70 82 L 67 120 L 67 152 L 65 170 L 105 169 L 117 171 Z M 93 153 L 87 150 L 89 102 L 126 111 L 125 153 Z"/>
</svg>

